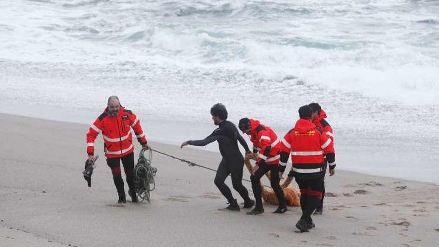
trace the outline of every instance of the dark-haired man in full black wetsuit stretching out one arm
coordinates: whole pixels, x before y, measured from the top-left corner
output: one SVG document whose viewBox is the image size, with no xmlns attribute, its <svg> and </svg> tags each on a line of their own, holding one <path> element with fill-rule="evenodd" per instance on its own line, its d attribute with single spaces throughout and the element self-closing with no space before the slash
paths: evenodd
<svg viewBox="0 0 439 247">
<path fill-rule="evenodd" d="M 233 198 L 230 189 L 224 183 L 227 176 L 231 174 L 233 189 L 235 189 L 242 199 L 244 199 L 244 208 L 251 208 L 254 205 L 254 201 L 248 197 L 248 191 L 242 185 L 244 158 L 242 157 L 241 151 L 239 151 L 237 141 L 239 141 L 246 153 L 249 153 L 250 150 L 248 149 L 245 140 L 239 134 L 236 126 L 232 122 L 226 120 L 227 110 L 223 104 L 218 103 L 212 106 L 211 114 L 214 124 L 219 127 L 203 140 L 189 140 L 182 143 L 181 148 L 186 145 L 206 146 L 209 143 L 218 141 L 219 152 L 221 153 L 222 160 L 219 163 L 217 176 L 215 177 L 215 185 L 218 187 L 221 194 L 227 199 L 229 203 L 227 209 L 239 211 L 239 205 L 237 204 L 236 199 Z"/>
</svg>

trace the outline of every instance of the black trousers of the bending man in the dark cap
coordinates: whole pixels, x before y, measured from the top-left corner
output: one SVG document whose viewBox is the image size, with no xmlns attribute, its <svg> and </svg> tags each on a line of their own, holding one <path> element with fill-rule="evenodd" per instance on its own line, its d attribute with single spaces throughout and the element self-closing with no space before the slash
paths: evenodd
<svg viewBox="0 0 439 247">
<path fill-rule="evenodd" d="M 254 200 L 256 201 L 255 208 L 261 209 L 262 206 L 262 189 L 260 184 L 260 179 L 265 173 L 270 171 L 270 185 L 274 193 L 276 193 L 277 199 L 279 200 L 279 208 L 285 208 L 285 198 L 283 195 L 283 190 L 279 185 L 279 165 L 267 165 L 265 163 L 259 164 L 259 168 L 254 172 L 254 175 L 250 176 L 251 188 L 253 189 Z"/>
</svg>

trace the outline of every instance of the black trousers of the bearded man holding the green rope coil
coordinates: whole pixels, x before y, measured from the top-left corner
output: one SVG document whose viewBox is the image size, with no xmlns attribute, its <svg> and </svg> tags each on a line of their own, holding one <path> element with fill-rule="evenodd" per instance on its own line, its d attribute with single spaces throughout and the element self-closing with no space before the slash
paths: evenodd
<svg viewBox="0 0 439 247">
<path fill-rule="evenodd" d="M 125 175 L 127 177 L 128 188 L 134 191 L 134 152 L 127 154 L 121 158 L 108 158 L 107 165 L 111 168 L 113 174 L 114 185 L 116 186 L 117 194 L 125 196 L 124 182 L 120 170 L 120 161 L 122 161 Z"/>
</svg>

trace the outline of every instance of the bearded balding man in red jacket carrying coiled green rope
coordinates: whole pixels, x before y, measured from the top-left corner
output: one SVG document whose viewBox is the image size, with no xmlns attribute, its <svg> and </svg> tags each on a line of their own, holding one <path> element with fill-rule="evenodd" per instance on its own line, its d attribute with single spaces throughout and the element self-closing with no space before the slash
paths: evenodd
<svg viewBox="0 0 439 247">
<path fill-rule="evenodd" d="M 145 133 L 140 121 L 134 113 L 120 105 L 117 96 L 108 98 L 108 104 L 104 112 L 94 121 L 87 132 L 87 154 L 91 160 L 94 155 L 94 141 L 100 132 L 104 138 L 104 151 L 107 157 L 107 165 L 111 168 L 114 185 L 119 195 L 118 203 L 126 203 L 124 182 L 120 171 L 120 160 L 124 166 L 128 194 L 133 203 L 137 202 L 134 190 L 134 146 L 131 129 L 134 130 L 137 140 L 143 148 L 148 149 Z"/>
</svg>

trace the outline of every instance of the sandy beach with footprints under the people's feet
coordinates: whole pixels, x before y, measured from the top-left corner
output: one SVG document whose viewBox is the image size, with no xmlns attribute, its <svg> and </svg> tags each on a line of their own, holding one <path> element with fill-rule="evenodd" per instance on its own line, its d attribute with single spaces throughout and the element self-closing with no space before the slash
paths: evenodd
<svg viewBox="0 0 439 247">
<path fill-rule="evenodd" d="M 337 170 L 336 176 L 326 177 L 323 215 L 313 217 L 316 228 L 300 234 L 294 227 L 300 208 L 290 207 L 283 215 L 272 214 L 275 206 L 270 205 L 264 205 L 265 213 L 258 216 L 247 216 L 243 209 L 228 212 L 213 183 L 214 172 L 157 153 L 153 154 L 157 188 L 151 204 L 118 205 L 101 136 L 91 188 L 82 177 L 87 125 L 6 114 L 0 114 L 0 124 L 1 247 L 434 247 L 439 243 L 435 184 Z M 151 146 L 214 169 L 220 160 L 216 152 L 154 142 Z M 136 144 L 136 156 L 138 150 Z M 292 185 L 297 188 L 294 181 Z M 250 184 L 244 186 L 251 194 Z M 242 205 L 242 199 L 238 202 Z"/>
</svg>

